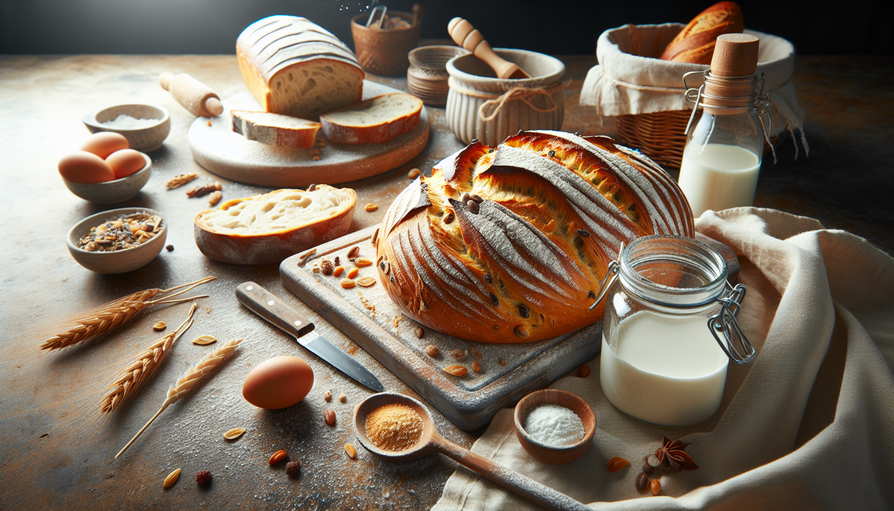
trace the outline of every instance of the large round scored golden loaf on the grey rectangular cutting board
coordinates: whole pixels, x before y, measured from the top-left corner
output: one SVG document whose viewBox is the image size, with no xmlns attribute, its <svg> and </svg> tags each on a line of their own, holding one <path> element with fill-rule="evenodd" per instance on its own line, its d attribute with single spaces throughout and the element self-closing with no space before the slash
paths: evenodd
<svg viewBox="0 0 894 511">
<path fill-rule="evenodd" d="M 622 242 L 692 236 L 660 166 L 608 137 L 519 132 L 469 144 L 401 192 L 375 238 L 380 281 L 409 317 L 451 336 L 519 343 L 602 319 L 590 311 Z"/>
</svg>

